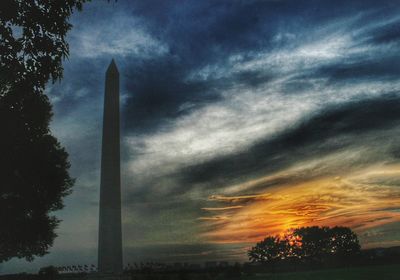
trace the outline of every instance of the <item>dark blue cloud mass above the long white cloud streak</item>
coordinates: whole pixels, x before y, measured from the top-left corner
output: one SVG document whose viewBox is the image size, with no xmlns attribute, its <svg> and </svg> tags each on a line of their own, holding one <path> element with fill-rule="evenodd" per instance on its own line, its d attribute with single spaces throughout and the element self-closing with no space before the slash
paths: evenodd
<svg viewBox="0 0 400 280">
<path fill-rule="evenodd" d="M 207 65 L 224 65 L 231 55 L 241 54 L 251 59 L 265 49 L 290 46 L 278 33 L 293 33 L 311 41 L 312 30 L 337 18 L 351 18 L 366 11 L 375 16 L 388 13 L 393 3 L 376 9 L 373 1 L 139 1 L 129 4 L 133 16 L 143 19 L 143 28 L 168 45 L 169 52 L 151 59 L 131 59 L 126 67 L 125 86 L 128 100 L 125 106 L 125 129 L 135 133 L 154 132 L 168 122 L 219 100 L 220 92 L 235 84 L 257 86 L 276 78 L 272 69 L 247 70 L 232 73 L 218 81 L 209 77 L 198 81 L 187 75 Z M 381 10 L 384 10 L 383 12 Z M 360 29 L 365 22 L 352 23 Z M 370 40 L 389 36 L 395 40 L 396 25 L 376 27 L 364 34 Z M 384 33 L 382 33 L 384 32 Z M 387 35 L 383 35 L 386 34 Z M 296 44 L 301 42 L 296 39 Z M 367 43 L 366 43 L 367 44 Z M 361 60 L 361 61 L 360 61 Z M 331 81 L 354 78 L 393 78 L 398 71 L 398 56 L 383 55 L 364 61 L 352 57 L 351 63 L 333 61 L 316 65 L 310 77 L 325 76 Z M 229 68 L 229 65 L 225 65 Z M 298 73 L 300 74 L 300 73 Z M 301 74 L 300 76 L 301 77 Z M 299 78 L 300 79 L 300 78 Z M 288 90 L 294 93 L 299 81 Z M 303 86 L 307 86 L 305 83 Z"/>
</svg>

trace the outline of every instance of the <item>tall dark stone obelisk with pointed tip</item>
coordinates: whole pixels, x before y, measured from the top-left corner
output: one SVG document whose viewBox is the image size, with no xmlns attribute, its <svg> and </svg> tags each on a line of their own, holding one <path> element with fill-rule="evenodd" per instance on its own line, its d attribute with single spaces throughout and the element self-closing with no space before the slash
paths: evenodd
<svg viewBox="0 0 400 280">
<path fill-rule="evenodd" d="M 106 72 L 101 151 L 98 271 L 122 273 L 119 72 Z"/>
</svg>

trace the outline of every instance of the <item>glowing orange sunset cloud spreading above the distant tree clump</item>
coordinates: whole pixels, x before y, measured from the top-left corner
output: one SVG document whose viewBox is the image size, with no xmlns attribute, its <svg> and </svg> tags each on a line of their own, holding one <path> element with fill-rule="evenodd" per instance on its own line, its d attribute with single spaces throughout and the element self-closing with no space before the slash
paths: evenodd
<svg viewBox="0 0 400 280">
<path fill-rule="evenodd" d="M 398 166 L 269 187 L 268 193 L 214 195 L 210 200 L 229 206 L 206 208 L 218 209 L 219 213 L 226 211 L 226 215 L 223 222 L 221 219 L 214 222 L 212 216 L 201 218 L 207 221 L 204 236 L 217 243 L 257 242 L 267 235 L 300 226 L 341 225 L 363 233 L 399 222 L 400 187 L 393 178 L 400 182 Z M 238 203 L 240 206 L 235 207 Z"/>
</svg>

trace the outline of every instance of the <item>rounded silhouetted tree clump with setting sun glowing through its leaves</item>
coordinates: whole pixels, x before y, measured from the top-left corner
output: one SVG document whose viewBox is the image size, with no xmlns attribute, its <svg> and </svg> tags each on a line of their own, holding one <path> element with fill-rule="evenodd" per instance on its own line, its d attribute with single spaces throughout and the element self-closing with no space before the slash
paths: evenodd
<svg viewBox="0 0 400 280">
<path fill-rule="evenodd" d="M 322 261 L 360 251 L 357 235 L 346 227 L 301 227 L 283 236 L 268 236 L 248 251 L 252 262 Z"/>
</svg>

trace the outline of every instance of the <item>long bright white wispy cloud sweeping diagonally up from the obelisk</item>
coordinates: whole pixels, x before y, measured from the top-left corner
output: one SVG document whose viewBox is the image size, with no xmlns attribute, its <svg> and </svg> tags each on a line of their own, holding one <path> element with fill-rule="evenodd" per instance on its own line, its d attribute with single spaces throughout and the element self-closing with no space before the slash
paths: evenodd
<svg viewBox="0 0 400 280">
<path fill-rule="evenodd" d="M 325 108 L 398 90 L 400 83 L 393 80 L 331 82 L 333 74 L 324 70 L 328 69 L 326 67 L 356 63 L 377 53 L 381 55 L 381 47 L 363 45 L 365 36 L 355 36 L 348 29 L 356 19 L 320 27 L 309 35 L 311 38 L 298 40 L 295 46 L 289 44 L 250 55 L 234 54 L 226 63 L 192 70 L 187 81 L 200 79 L 211 83 L 224 78 L 229 86 L 220 88 L 221 100 L 217 102 L 198 109 L 186 103 L 195 109 L 166 123 L 160 131 L 151 135 L 129 135 L 126 144 L 134 155 L 129 163 L 131 172 L 146 174 L 146 170 L 157 168 L 161 174 L 173 173 L 193 163 L 244 151 Z M 366 32 L 363 28 L 355 34 Z M 272 79 L 265 79 L 256 87 L 234 80 L 237 75 L 249 71 L 253 75 L 264 72 L 268 76 L 270 73 Z"/>
</svg>

